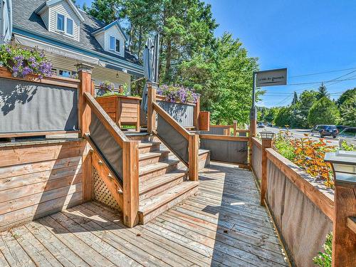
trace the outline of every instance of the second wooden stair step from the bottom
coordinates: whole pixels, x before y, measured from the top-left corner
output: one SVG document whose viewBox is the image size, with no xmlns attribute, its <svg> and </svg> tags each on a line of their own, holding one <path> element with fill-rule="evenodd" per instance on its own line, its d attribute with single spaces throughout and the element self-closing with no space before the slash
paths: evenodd
<svg viewBox="0 0 356 267">
<path fill-rule="evenodd" d="M 144 182 L 140 182 L 140 201 L 160 194 L 167 189 L 174 187 L 184 181 L 187 181 L 188 172 L 184 169 L 177 169 Z"/>
</svg>

